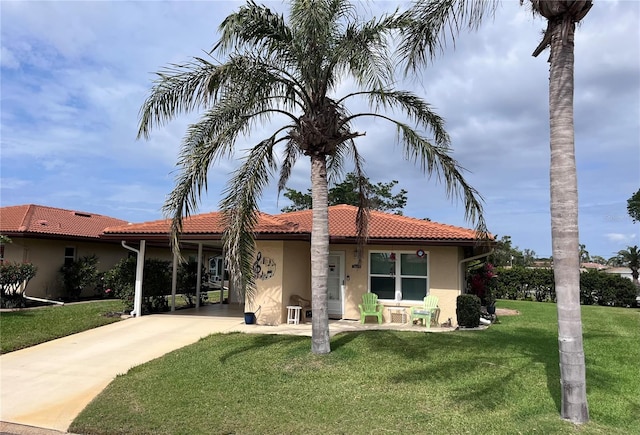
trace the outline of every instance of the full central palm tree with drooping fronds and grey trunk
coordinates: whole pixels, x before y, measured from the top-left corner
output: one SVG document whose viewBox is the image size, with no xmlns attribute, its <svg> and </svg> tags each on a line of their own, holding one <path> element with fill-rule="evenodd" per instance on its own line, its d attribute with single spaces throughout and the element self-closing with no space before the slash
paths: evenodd
<svg viewBox="0 0 640 435">
<path fill-rule="evenodd" d="M 233 154 L 240 136 L 255 126 L 273 127 L 257 140 L 225 189 L 220 209 L 227 219 L 223 237 L 229 270 L 236 288 L 254 290 L 251 259 L 252 228 L 263 188 L 279 169 L 281 191 L 298 158 L 311 161 L 313 223 L 311 236 L 313 353 L 330 352 L 327 312 L 328 206 L 327 183 L 350 158 L 358 179 L 366 180 L 355 139 L 364 136 L 353 124 L 373 117 L 395 126 L 404 156 L 428 173 L 436 173 L 450 195 L 464 201 L 466 217 L 486 230 L 479 195 L 467 184 L 450 156 L 450 140 L 443 120 L 411 92 L 390 87 L 394 61 L 389 37 L 396 17 L 358 19 L 347 0 L 292 0 L 288 19 L 249 1 L 220 25 L 221 38 L 211 57 L 193 58 L 184 65 L 160 71 L 141 108 L 138 137 L 176 115 L 204 110 L 189 126 L 183 140 L 176 185 L 163 210 L 172 218 L 172 245 L 178 246 L 182 219 L 196 209 L 207 187 L 207 171 Z M 224 59 L 218 61 L 217 59 Z M 338 85 L 351 79 L 357 90 L 335 95 Z M 351 113 L 350 101 L 363 100 L 371 111 Z M 404 113 L 392 119 L 385 110 Z M 396 113 L 398 113 L 396 112 Z M 430 140 L 419 131 L 429 131 Z M 281 150 L 281 164 L 277 152 Z M 360 187 L 366 203 L 364 186 Z M 357 222 L 366 236 L 367 213 Z"/>
</svg>

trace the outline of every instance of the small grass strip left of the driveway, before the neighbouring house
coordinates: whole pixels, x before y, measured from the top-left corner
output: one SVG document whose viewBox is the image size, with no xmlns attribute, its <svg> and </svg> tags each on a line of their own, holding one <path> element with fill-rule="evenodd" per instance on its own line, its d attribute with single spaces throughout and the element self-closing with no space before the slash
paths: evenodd
<svg viewBox="0 0 640 435">
<path fill-rule="evenodd" d="M 7 353 L 117 322 L 106 313 L 122 311 L 120 300 L 52 306 L 0 313 L 0 352 Z"/>
</svg>

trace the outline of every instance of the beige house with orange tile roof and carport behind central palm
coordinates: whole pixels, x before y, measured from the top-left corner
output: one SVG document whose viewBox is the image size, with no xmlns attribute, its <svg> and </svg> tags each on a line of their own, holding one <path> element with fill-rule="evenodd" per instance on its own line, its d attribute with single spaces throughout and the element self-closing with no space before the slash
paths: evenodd
<svg viewBox="0 0 640 435">
<path fill-rule="evenodd" d="M 359 261 L 356 212 L 348 205 L 329 207 L 329 317 L 359 319 L 358 304 L 367 292 L 378 294 L 385 307 L 407 308 L 432 294 L 439 298 L 440 322 L 451 318 L 455 323 L 466 263 L 488 256 L 490 247 L 479 244 L 471 229 L 371 211 Z M 311 221 L 311 210 L 259 215 L 253 259 L 257 289 L 253 300 L 244 301 L 245 310 L 256 311 L 258 323 L 284 323 L 293 295 L 311 299 Z M 144 241 L 146 257 L 162 250 L 166 255 L 169 224 L 160 220 L 107 228 L 102 238 Z M 197 248 L 203 253 L 200 261 L 211 265 L 222 254 L 223 231 L 220 213 L 191 216 L 183 221 L 181 244 Z M 387 309 L 384 318 L 389 320 Z"/>
</svg>

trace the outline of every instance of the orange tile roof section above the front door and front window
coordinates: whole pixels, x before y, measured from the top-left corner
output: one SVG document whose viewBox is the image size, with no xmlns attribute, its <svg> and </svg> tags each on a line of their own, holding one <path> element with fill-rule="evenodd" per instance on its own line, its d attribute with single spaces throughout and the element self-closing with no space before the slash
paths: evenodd
<svg viewBox="0 0 640 435">
<path fill-rule="evenodd" d="M 329 207 L 329 234 L 332 238 L 356 235 L 356 213 L 351 205 Z M 312 210 L 284 213 L 276 217 L 299 225 L 301 231 L 311 232 Z M 475 240 L 472 229 L 440 224 L 379 211 L 369 215 L 369 239 Z"/>
</svg>

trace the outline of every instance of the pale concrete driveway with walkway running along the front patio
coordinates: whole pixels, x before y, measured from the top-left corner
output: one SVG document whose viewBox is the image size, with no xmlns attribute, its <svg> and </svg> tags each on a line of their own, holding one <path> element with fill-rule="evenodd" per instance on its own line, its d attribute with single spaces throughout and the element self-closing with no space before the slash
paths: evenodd
<svg viewBox="0 0 640 435">
<path fill-rule="evenodd" d="M 332 321 L 330 326 L 331 335 L 362 329 L 425 331 L 411 325 L 353 321 Z M 442 329 L 432 329 L 438 330 Z M 64 432 L 117 375 L 207 335 L 236 331 L 311 336 L 311 325 L 245 325 L 237 308 L 209 305 L 127 319 L 10 352 L 0 356 L 0 420 Z M 10 426 L 0 430 L 44 433 L 9 431 Z"/>
</svg>

